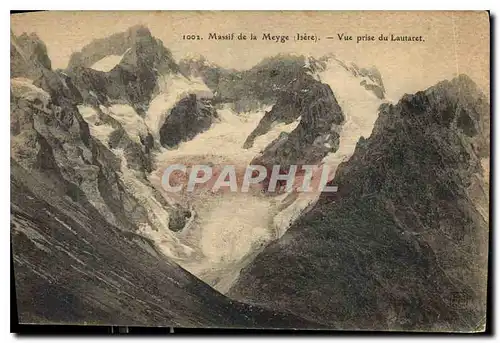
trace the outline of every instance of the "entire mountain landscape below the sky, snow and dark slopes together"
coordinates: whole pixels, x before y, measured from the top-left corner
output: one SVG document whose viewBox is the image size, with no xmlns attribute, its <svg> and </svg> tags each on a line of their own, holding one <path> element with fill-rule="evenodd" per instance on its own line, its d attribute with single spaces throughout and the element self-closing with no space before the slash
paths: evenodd
<svg viewBox="0 0 500 343">
<path fill-rule="evenodd" d="M 66 70 L 35 35 L 12 36 L 11 59 L 23 322 L 484 325 L 489 105 L 467 77 L 382 104 L 375 68 L 293 55 L 246 71 L 177 65 L 140 26 Z M 172 163 L 341 161 L 339 192 L 319 200 L 161 187 Z"/>
</svg>

